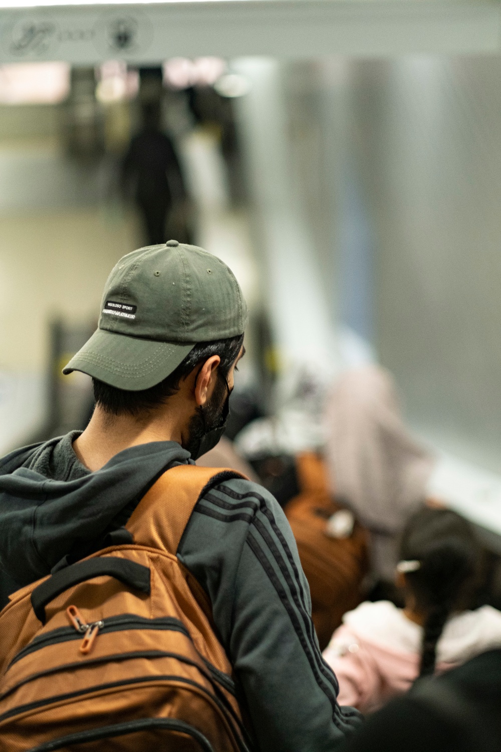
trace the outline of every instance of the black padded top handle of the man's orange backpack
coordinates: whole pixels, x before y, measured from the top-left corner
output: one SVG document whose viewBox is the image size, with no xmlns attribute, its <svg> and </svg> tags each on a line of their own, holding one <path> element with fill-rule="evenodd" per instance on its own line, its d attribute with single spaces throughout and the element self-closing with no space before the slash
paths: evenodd
<svg viewBox="0 0 501 752">
<path fill-rule="evenodd" d="M 35 616 L 42 624 L 45 624 L 45 607 L 54 598 L 60 596 L 69 587 L 92 580 L 95 577 L 107 575 L 114 577 L 132 590 L 149 595 L 149 568 L 128 559 L 119 559 L 117 556 L 95 556 L 83 562 L 71 564 L 65 569 L 55 572 L 50 578 L 44 580 L 32 592 L 32 607 Z"/>
</svg>

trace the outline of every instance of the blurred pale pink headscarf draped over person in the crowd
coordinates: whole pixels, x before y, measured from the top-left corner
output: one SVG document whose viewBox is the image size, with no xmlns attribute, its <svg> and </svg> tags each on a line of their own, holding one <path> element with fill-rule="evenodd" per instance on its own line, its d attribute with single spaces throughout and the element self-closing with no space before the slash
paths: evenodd
<svg viewBox="0 0 501 752">
<path fill-rule="evenodd" d="M 393 580 L 397 536 L 424 501 L 433 457 L 409 434 L 391 374 L 377 365 L 341 376 L 326 420 L 333 493 L 370 529 L 376 575 Z"/>
</svg>

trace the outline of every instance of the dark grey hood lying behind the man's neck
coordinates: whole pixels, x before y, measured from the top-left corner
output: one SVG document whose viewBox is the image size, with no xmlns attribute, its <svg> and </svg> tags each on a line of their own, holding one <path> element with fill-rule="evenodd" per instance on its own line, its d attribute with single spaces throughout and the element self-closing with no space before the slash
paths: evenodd
<svg viewBox="0 0 501 752">
<path fill-rule="evenodd" d="M 0 559 L 20 587 L 48 575 L 75 550 L 86 556 L 107 532 L 124 525 L 157 478 L 186 464 L 175 441 L 153 441 L 116 454 L 96 472 L 71 481 L 38 469 L 62 438 L 16 450 L 0 459 Z"/>
</svg>

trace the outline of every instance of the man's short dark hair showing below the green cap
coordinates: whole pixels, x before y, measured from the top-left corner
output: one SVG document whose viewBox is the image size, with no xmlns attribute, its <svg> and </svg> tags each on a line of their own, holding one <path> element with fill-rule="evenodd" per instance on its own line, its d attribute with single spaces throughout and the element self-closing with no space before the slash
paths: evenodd
<svg viewBox="0 0 501 752">
<path fill-rule="evenodd" d="M 213 355 L 219 355 L 221 362 L 218 372 L 223 378 L 228 377 L 231 365 L 237 359 L 243 343 L 243 334 L 228 339 L 219 339 L 213 342 L 199 342 L 195 344 L 180 365 L 154 387 L 131 392 L 128 390 L 110 387 L 97 378 L 92 379 L 94 387 L 94 399 L 103 410 L 110 415 L 133 415 L 137 416 L 162 405 L 180 388 L 180 381 L 189 374 L 197 365 L 204 363 Z"/>
</svg>

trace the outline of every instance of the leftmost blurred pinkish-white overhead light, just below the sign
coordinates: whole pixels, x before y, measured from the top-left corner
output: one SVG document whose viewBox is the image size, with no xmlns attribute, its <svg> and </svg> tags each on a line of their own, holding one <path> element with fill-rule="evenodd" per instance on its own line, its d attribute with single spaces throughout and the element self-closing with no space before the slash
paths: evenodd
<svg viewBox="0 0 501 752">
<path fill-rule="evenodd" d="M 54 105 L 70 92 L 66 62 L 17 62 L 0 65 L 2 105 Z"/>
</svg>

